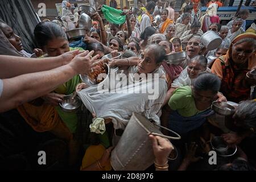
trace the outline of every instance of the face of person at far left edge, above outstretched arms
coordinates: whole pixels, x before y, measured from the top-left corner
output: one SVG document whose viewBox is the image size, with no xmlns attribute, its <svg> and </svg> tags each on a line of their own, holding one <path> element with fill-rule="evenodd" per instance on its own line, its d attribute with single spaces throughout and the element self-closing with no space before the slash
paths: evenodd
<svg viewBox="0 0 256 182">
<path fill-rule="evenodd" d="M 14 34 L 13 28 L 7 26 L 7 24 L 0 28 L 3 31 L 3 34 L 5 34 L 6 38 L 11 43 L 11 45 L 13 45 L 17 49 L 17 51 L 22 51 L 23 46 L 22 42 L 20 41 L 21 38 L 18 35 Z"/>
</svg>

